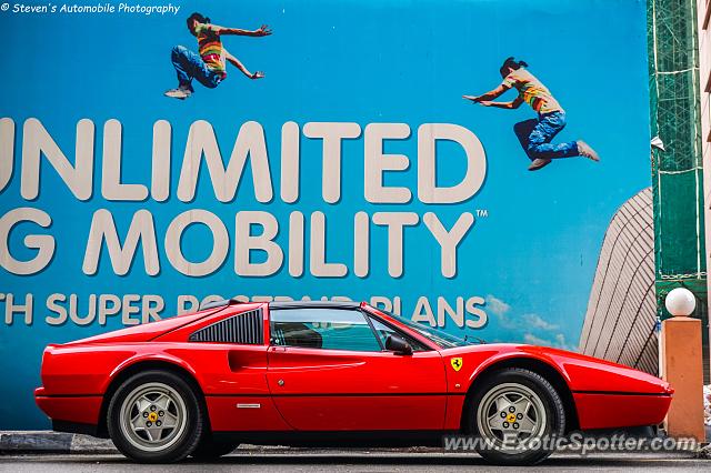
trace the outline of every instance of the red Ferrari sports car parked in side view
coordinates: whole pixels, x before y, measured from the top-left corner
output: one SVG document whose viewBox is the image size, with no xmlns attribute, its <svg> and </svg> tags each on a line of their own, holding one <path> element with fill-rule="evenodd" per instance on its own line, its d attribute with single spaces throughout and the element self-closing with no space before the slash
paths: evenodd
<svg viewBox="0 0 711 473">
<path fill-rule="evenodd" d="M 453 338 L 365 303 L 222 301 L 61 345 L 37 403 L 56 431 L 109 436 L 140 462 L 217 457 L 240 442 L 432 445 L 481 440 L 531 464 L 547 436 L 658 424 L 662 380 L 580 354 Z"/>
</svg>

